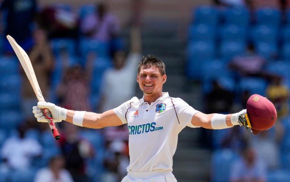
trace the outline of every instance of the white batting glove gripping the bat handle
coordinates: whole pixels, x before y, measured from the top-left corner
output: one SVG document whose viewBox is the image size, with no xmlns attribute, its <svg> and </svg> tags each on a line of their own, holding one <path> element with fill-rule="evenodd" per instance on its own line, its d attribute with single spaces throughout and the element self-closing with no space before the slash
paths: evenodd
<svg viewBox="0 0 290 182">
<path fill-rule="evenodd" d="M 67 109 L 58 107 L 53 103 L 41 101 L 37 103 L 37 106 L 33 106 L 32 108 L 34 117 L 37 118 L 38 122 L 47 122 L 47 118 L 42 110 L 43 108 L 47 108 L 50 111 L 54 122 L 60 122 L 67 119 Z"/>
</svg>

